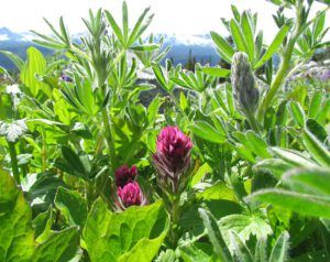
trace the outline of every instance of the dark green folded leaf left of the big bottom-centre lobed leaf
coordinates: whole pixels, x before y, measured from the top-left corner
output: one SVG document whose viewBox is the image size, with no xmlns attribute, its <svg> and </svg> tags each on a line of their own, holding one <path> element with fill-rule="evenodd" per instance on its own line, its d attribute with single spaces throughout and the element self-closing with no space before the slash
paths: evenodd
<svg viewBox="0 0 330 262">
<path fill-rule="evenodd" d="M 68 225 L 77 225 L 82 229 L 87 218 L 87 203 L 79 193 L 61 186 L 57 188 L 54 203 Z"/>
</svg>

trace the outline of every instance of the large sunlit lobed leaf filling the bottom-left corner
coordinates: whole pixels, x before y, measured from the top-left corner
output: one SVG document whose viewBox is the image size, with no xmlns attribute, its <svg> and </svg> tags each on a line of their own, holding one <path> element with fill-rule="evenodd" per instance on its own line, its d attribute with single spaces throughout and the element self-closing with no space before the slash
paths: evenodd
<svg viewBox="0 0 330 262">
<path fill-rule="evenodd" d="M 32 212 L 13 178 L 0 170 L 0 261 L 66 262 L 75 256 L 79 234 L 76 227 L 53 232 L 37 245 Z"/>
</svg>

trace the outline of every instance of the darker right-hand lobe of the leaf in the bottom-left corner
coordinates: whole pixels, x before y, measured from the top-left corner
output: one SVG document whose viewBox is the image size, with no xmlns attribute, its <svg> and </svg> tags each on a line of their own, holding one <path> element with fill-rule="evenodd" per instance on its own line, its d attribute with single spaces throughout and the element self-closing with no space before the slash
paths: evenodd
<svg viewBox="0 0 330 262">
<path fill-rule="evenodd" d="M 54 232 L 47 241 L 38 245 L 33 262 L 67 262 L 73 259 L 79 245 L 78 228 L 72 227 Z"/>
</svg>

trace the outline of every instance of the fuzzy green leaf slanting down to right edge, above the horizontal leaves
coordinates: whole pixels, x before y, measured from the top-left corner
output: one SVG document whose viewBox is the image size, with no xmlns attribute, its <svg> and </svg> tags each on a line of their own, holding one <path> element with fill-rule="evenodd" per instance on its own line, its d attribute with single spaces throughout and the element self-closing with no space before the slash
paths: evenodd
<svg viewBox="0 0 330 262">
<path fill-rule="evenodd" d="M 308 130 L 302 132 L 302 142 L 311 156 L 323 166 L 330 166 L 330 152 Z"/>
</svg>

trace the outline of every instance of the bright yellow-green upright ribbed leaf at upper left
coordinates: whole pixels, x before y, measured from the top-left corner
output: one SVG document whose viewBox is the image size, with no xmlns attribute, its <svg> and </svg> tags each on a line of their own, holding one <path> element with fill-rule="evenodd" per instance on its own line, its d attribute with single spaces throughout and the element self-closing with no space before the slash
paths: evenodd
<svg viewBox="0 0 330 262">
<path fill-rule="evenodd" d="M 26 51 L 28 63 L 21 70 L 21 80 L 29 87 L 32 96 L 36 97 L 40 90 L 50 94 L 48 86 L 36 79 L 36 76 L 43 76 L 46 70 L 46 59 L 43 54 L 35 47 Z"/>
</svg>

